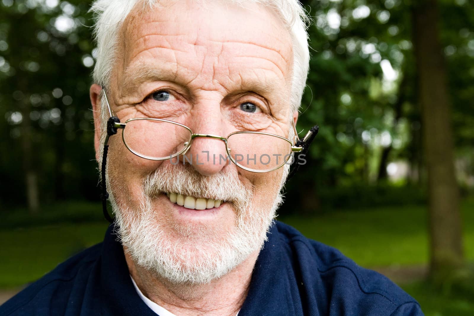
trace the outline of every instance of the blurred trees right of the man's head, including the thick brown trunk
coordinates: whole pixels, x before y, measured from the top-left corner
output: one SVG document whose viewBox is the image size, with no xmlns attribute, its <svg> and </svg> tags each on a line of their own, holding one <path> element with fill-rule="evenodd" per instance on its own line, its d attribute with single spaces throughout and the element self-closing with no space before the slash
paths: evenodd
<svg viewBox="0 0 474 316">
<path fill-rule="evenodd" d="M 421 186 L 428 183 L 431 271 L 443 279 L 463 262 L 452 138 L 454 133 L 459 153 L 472 156 L 473 2 L 441 0 L 439 18 L 434 0 L 309 4 L 314 50 L 303 104 L 310 108 L 301 114 L 300 124 L 321 122 L 321 133 L 319 148 L 311 151 L 312 164 L 304 166 L 311 172 L 297 176 L 305 190 L 289 195 L 301 199 L 303 208 L 314 209 L 320 197 L 307 192 L 328 195 L 347 183 L 352 183 L 348 190 L 357 191 L 367 179 L 385 179 L 390 161 L 406 159 L 410 179 Z M 359 159 L 365 163 L 358 164 Z M 353 202 L 363 202 L 354 196 L 359 199 Z"/>
</svg>

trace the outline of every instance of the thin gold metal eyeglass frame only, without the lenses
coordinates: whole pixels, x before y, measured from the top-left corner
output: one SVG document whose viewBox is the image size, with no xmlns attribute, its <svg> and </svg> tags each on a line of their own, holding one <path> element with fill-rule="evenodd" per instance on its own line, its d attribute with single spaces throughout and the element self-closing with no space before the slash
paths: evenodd
<svg viewBox="0 0 474 316">
<path fill-rule="evenodd" d="M 105 87 L 102 86 L 102 90 L 103 90 L 103 94 L 104 94 L 104 98 L 105 98 L 105 101 L 107 103 L 107 108 L 109 110 L 109 115 L 110 117 L 114 117 L 115 115 L 113 115 L 113 112 L 112 112 L 112 109 L 110 107 L 110 103 L 109 103 L 109 99 L 107 98 L 107 93 L 105 91 Z M 116 116 L 115 116 L 116 117 Z M 184 128 L 186 128 L 190 133 L 191 133 L 191 137 L 189 139 L 189 141 L 185 142 L 184 143 L 184 148 L 177 152 L 177 153 L 173 153 L 172 155 L 170 155 L 169 157 L 165 157 L 165 158 L 154 158 L 154 157 L 148 157 L 146 155 L 143 155 L 141 153 L 137 153 L 135 150 L 131 149 L 127 142 L 125 141 L 125 137 L 124 137 L 124 131 L 125 131 L 125 127 L 127 126 L 127 123 L 128 122 L 131 122 L 131 121 L 136 121 L 136 120 L 149 120 L 149 121 L 158 121 L 158 122 L 166 122 L 166 123 L 172 123 L 172 124 L 175 124 L 175 125 L 178 125 L 178 126 L 182 126 Z M 207 138 L 212 138 L 212 139 L 219 139 L 221 141 L 223 141 L 225 144 L 226 144 L 226 152 L 228 154 L 228 157 L 230 158 L 230 160 L 235 163 L 239 168 L 242 168 L 246 171 L 249 171 L 249 172 L 258 172 L 258 173 L 261 173 L 261 172 L 271 172 L 273 170 L 276 170 L 278 168 L 281 168 L 283 167 L 283 165 L 285 163 L 287 163 L 293 156 L 293 153 L 298 153 L 298 152 L 301 152 L 303 150 L 303 147 L 302 146 L 296 146 L 295 144 L 300 141 L 300 138 L 298 137 L 298 133 L 296 131 L 296 126 L 294 124 L 294 122 L 292 121 L 292 126 L 293 126 L 293 130 L 294 130 L 294 133 L 295 133 L 295 141 L 294 143 L 292 141 L 290 141 L 288 138 L 285 138 L 283 136 L 280 136 L 280 135 L 275 135 L 275 134 L 271 134 L 271 133 L 265 133 L 265 132 L 254 132 L 254 131 L 237 131 L 237 132 L 233 132 L 233 133 L 230 133 L 227 137 L 222 137 L 222 136 L 219 136 L 219 135 L 212 135 L 212 134 L 199 134 L 199 133 L 193 133 L 191 128 L 189 128 L 188 126 L 186 125 L 183 125 L 181 123 L 178 123 L 178 122 L 173 122 L 173 121 L 170 121 L 170 120 L 167 120 L 167 119 L 164 119 L 164 118 L 154 118 L 154 117 L 134 117 L 134 118 L 129 118 L 128 120 L 125 121 L 125 123 L 119 123 L 119 122 L 114 122 L 114 126 L 115 128 L 120 128 L 122 129 L 122 141 L 123 143 L 125 144 L 125 146 L 127 147 L 127 149 L 131 152 L 131 153 L 134 153 L 135 155 L 137 155 L 138 157 L 141 157 L 141 158 L 144 158 L 144 159 L 148 159 L 148 160 L 155 160 L 155 161 L 160 161 L 160 160 L 166 160 L 166 159 L 172 159 L 176 156 L 179 156 L 179 155 L 184 155 L 186 154 L 186 152 L 189 150 L 189 148 L 191 148 L 191 143 L 192 143 L 192 140 L 196 137 L 207 137 Z M 273 169 L 269 169 L 269 170 L 255 170 L 255 169 L 250 169 L 250 168 L 247 168 L 247 167 L 244 167 L 242 165 L 240 165 L 233 157 L 232 155 L 230 154 L 230 148 L 228 147 L 228 144 L 227 144 L 227 140 L 230 136 L 232 135 L 236 135 L 236 134 L 260 134 L 260 135 L 269 135 L 269 136 L 274 136 L 274 137 L 278 137 L 280 139 L 283 139 L 285 141 L 287 141 L 288 143 L 291 144 L 291 152 L 289 153 L 289 157 L 288 159 L 284 160 L 283 163 Z M 305 139 L 306 139 L 306 136 L 305 136 Z M 104 145 L 107 145 L 109 142 L 109 135 L 106 136 L 106 139 L 104 141 Z M 286 154 L 288 155 L 288 153 Z M 285 156 L 286 156 L 285 155 Z"/>
</svg>

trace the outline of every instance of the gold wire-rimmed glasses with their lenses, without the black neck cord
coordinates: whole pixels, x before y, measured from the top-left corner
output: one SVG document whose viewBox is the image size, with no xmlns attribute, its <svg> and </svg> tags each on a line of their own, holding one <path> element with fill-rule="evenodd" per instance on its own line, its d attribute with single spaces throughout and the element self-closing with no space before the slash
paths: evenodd
<svg viewBox="0 0 474 316">
<path fill-rule="evenodd" d="M 113 117 L 107 94 L 104 97 Z M 182 155 L 183 162 L 223 163 L 228 159 L 238 167 L 250 172 L 270 172 L 291 163 L 292 153 L 301 152 L 302 146 L 295 145 L 289 139 L 265 132 L 237 131 L 227 137 L 211 134 L 196 134 L 191 128 L 178 122 L 162 118 L 137 117 L 124 123 L 114 122 L 115 128 L 122 129 L 122 140 L 128 150 L 139 157 L 149 160 L 173 159 Z M 295 129 L 295 139 L 299 140 Z M 215 156 L 203 151 L 201 156 L 187 157 L 192 140 L 206 137 L 221 140 L 226 145 L 227 156 Z M 107 144 L 108 139 L 106 139 Z"/>
</svg>

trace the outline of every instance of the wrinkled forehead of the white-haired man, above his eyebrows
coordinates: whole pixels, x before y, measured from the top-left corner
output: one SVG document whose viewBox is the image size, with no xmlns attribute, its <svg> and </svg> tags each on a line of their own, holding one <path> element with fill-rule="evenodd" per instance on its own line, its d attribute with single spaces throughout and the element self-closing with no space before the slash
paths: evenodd
<svg viewBox="0 0 474 316">
<path fill-rule="evenodd" d="M 137 57 L 141 58 L 139 56 L 141 53 L 154 57 L 155 61 L 154 64 L 147 65 L 144 68 L 138 68 L 133 73 L 129 71 L 130 67 L 127 67 L 127 74 L 124 75 L 124 83 L 164 78 L 164 72 L 168 72 L 170 68 L 174 68 L 172 73 L 166 74 L 166 78 L 172 79 L 172 81 L 181 81 L 180 83 L 185 83 L 185 85 L 193 84 L 195 87 L 200 83 L 201 88 L 204 88 L 202 83 L 205 81 L 200 81 L 200 79 L 209 80 L 210 78 L 208 76 L 212 74 L 211 82 L 213 81 L 215 84 L 219 83 L 220 87 L 229 90 L 229 88 L 237 88 L 235 82 L 232 82 L 230 78 L 234 77 L 235 73 L 235 71 L 233 71 L 234 73 L 229 73 L 230 67 L 235 67 L 237 64 L 237 67 L 249 68 L 252 66 L 249 62 L 251 60 L 255 61 L 257 58 L 268 61 L 267 65 L 260 63 L 258 66 L 263 67 L 269 72 L 274 72 L 277 75 L 275 77 L 288 80 L 290 76 L 289 72 L 292 68 L 292 45 L 289 45 L 291 40 L 284 40 L 289 39 L 290 36 L 286 30 L 285 34 L 273 32 L 273 29 L 281 27 L 280 25 L 276 25 L 273 20 L 270 21 L 268 27 L 259 28 L 258 32 L 242 32 L 240 29 L 229 29 L 228 31 L 224 30 L 224 32 L 219 27 L 210 29 L 209 32 L 199 32 L 197 27 L 203 22 L 202 19 L 197 21 L 197 27 L 191 27 L 189 23 L 178 23 L 183 18 L 186 18 L 186 14 L 185 16 L 178 16 L 176 20 L 167 19 L 166 15 L 163 14 L 156 15 L 154 12 L 136 15 L 131 14 L 129 17 L 130 23 L 124 23 L 126 27 L 123 27 L 122 30 L 124 33 L 127 33 L 124 34 L 126 39 L 130 39 L 128 43 L 133 44 L 129 45 L 130 51 L 124 53 L 128 53 L 127 57 L 132 58 L 128 60 L 124 58 L 125 60 L 123 61 L 125 63 L 133 62 Z M 204 22 L 204 28 L 206 28 L 205 26 L 208 23 L 206 21 Z M 244 30 L 248 29 L 249 27 L 246 27 Z M 278 36 L 278 34 L 282 36 Z M 158 40 L 155 40 L 155 38 L 158 38 Z M 125 42 L 127 42 L 127 40 L 125 40 Z M 217 47 L 217 45 L 212 47 L 211 44 L 219 44 L 219 47 Z M 142 47 L 140 47 L 137 52 L 138 46 Z M 192 48 L 188 49 L 188 47 Z M 198 47 L 201 47 L 201 50 Z M 223 47 L 226 49 L 224 50 Z M 257 47 L 257 49 L 255 49 L 255 47 Z M 204 51 L 202 48 L 204 48 Z M 216 53 L 217 48 L 219 48 L 218 54 Z M 126 49 L 124 50 L 127 51 Z M 228 59 L 227 63 L 220 62 L 223 51 L 224 54 L 228 54 L 229 52 L 233 53 L 232 58 Z M 248 51 L 252 51 L 252 53 L 256 51 L 257 55 L 261 55 L 261 57 L 252 56 Z M 161 58 L 157 59 L 157 57 Z M 196 57 L 198 57 L 199 60 Z M 248 61 L 245 62 L 247 58 Z M 189 64 L 179 63 L 178 61 L 180 60 L 190 60 L 191 62 Z M 161 69 L 161 72 L 157 72 L 156 69 L 154 69 L 156 68 L 156 63 L 160 61 L 165 63 L 166 71 Z M 172 67 L 170 67 L 170 64 Z M 203 73 L 205 69 L 209 71 L 207 74 Z M 226 70 L 227 78 L 224 78 L 226 76 L 223 74 Z M 180 73 L 182 74 L 181 76 L 179 75 Z M 241 76 L 241 74 L 239 74 L 239 76 Z M 204 77 L 208 78 L 206 79 Z M 276 87 L 280 89 L 284 85 L 275 84 L 274 80 L 268 79 L 268 75 L 264 75 L 267 79 L 264 80 L 266 82 L 255 80 L 255 77 L 258 78 L 261 77 L 261 75 L 258 76 L 254 74 L 251 77 L 253 78 L 247 78 L 242 82 L 248 82 L 248 84 L 246 84 L 247 86 L 259 88 L 258 90 L 264 91 L 265 93 L 274 91 Z M 182 79 L 185 79 L 185 81 Z M 194 81 L 200 82 L 194 84 Z M 250 84 L 250 81 L 255 82 Z M 130 88 L 130 84 L 127 84 L 127 86 Z M 209 85 L 206 88 L 208 87 Z"/>
</svg>

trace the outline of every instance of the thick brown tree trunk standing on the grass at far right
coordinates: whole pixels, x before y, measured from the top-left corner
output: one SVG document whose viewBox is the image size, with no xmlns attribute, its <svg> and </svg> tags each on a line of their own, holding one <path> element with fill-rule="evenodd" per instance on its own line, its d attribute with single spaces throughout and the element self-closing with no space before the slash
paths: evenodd
<svg viewBox="0 0 474 316">
<path fill-rule="evenodd" d="M 440 280 L 464 262 L 459 192 L 453 163 L 447 74 L 438 39 L 437 3 L 436 0 L 415 3 L 413 44 L 428 172 L 430 275 Z"/>
</svg>

